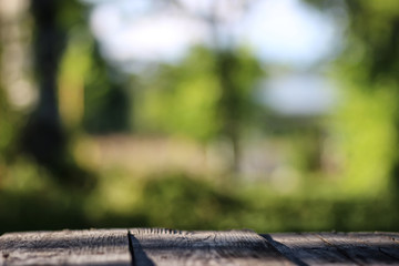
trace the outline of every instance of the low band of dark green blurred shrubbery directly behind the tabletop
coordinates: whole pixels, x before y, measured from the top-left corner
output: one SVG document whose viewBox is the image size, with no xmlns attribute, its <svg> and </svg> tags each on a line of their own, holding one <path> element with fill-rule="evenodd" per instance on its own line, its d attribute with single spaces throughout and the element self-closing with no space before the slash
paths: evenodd
<svg viewBox="0 0 399 266">
<path fill-rule="evenodd" d="M 226 188 L 202 176 L 134 178 L 117 171 L 112 180 L 121 182 L 110 182 L 106 173 L 96 190 L 82 193 L 52 183 L 29 161 L 10 171 L 13 174 L 0 187 L 0 233 L 110 226 L 259 233 L 399 229 L 390 194 L 342 197 L 337 191 L 328 196 L 305 191 L 283 196 L 262 183 Z"/>
</svg>

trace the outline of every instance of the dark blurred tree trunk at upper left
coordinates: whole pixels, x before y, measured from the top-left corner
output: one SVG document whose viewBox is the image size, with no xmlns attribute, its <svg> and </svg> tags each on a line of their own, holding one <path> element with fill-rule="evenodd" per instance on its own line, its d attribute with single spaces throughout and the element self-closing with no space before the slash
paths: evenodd
<svg viewBox="0 0 399 266">
<path fill-rule="evenodd" d="M 57 100 L 57 75 L 64 50 L 65 33 L 58 21 L 60 0 L 31 0 L 33 68 L 40 96 L 23 132 L 23 150 L 40 164 L 57 170 L 65 152 Z"/>
</svg>

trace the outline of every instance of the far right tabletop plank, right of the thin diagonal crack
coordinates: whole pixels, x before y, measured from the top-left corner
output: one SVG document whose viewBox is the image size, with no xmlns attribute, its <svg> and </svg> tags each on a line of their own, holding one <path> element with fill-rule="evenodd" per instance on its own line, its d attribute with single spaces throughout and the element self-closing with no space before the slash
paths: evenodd
<svg viewBox="0 0 399 266">
<path fill-rule="evenodd" d="M 359 265 L 399 265 L 397 233 L 321 233 L 320 239 L 337 247 Z"/>
</svg>

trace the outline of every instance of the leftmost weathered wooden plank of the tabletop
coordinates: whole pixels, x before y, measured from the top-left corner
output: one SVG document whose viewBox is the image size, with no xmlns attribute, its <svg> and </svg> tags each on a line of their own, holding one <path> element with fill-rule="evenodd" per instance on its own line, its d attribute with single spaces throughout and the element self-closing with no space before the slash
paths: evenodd
<svg viewBox="0 0 399 266">
<path fill-rule="evenodd" d="M 126 229 L 11 233 L 0 265 L 131 265 Z"/>
</svg>

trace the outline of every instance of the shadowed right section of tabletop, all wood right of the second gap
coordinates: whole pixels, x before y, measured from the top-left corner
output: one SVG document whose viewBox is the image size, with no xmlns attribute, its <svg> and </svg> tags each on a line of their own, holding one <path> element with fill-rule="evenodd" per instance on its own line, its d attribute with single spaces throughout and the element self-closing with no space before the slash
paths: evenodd
<svg viewBox="0 0 399 266">
<path fill-rule="evenodd" d="M 399 265 L 398 233 L 263 235 L 298 265 Z"/>
</svg>

